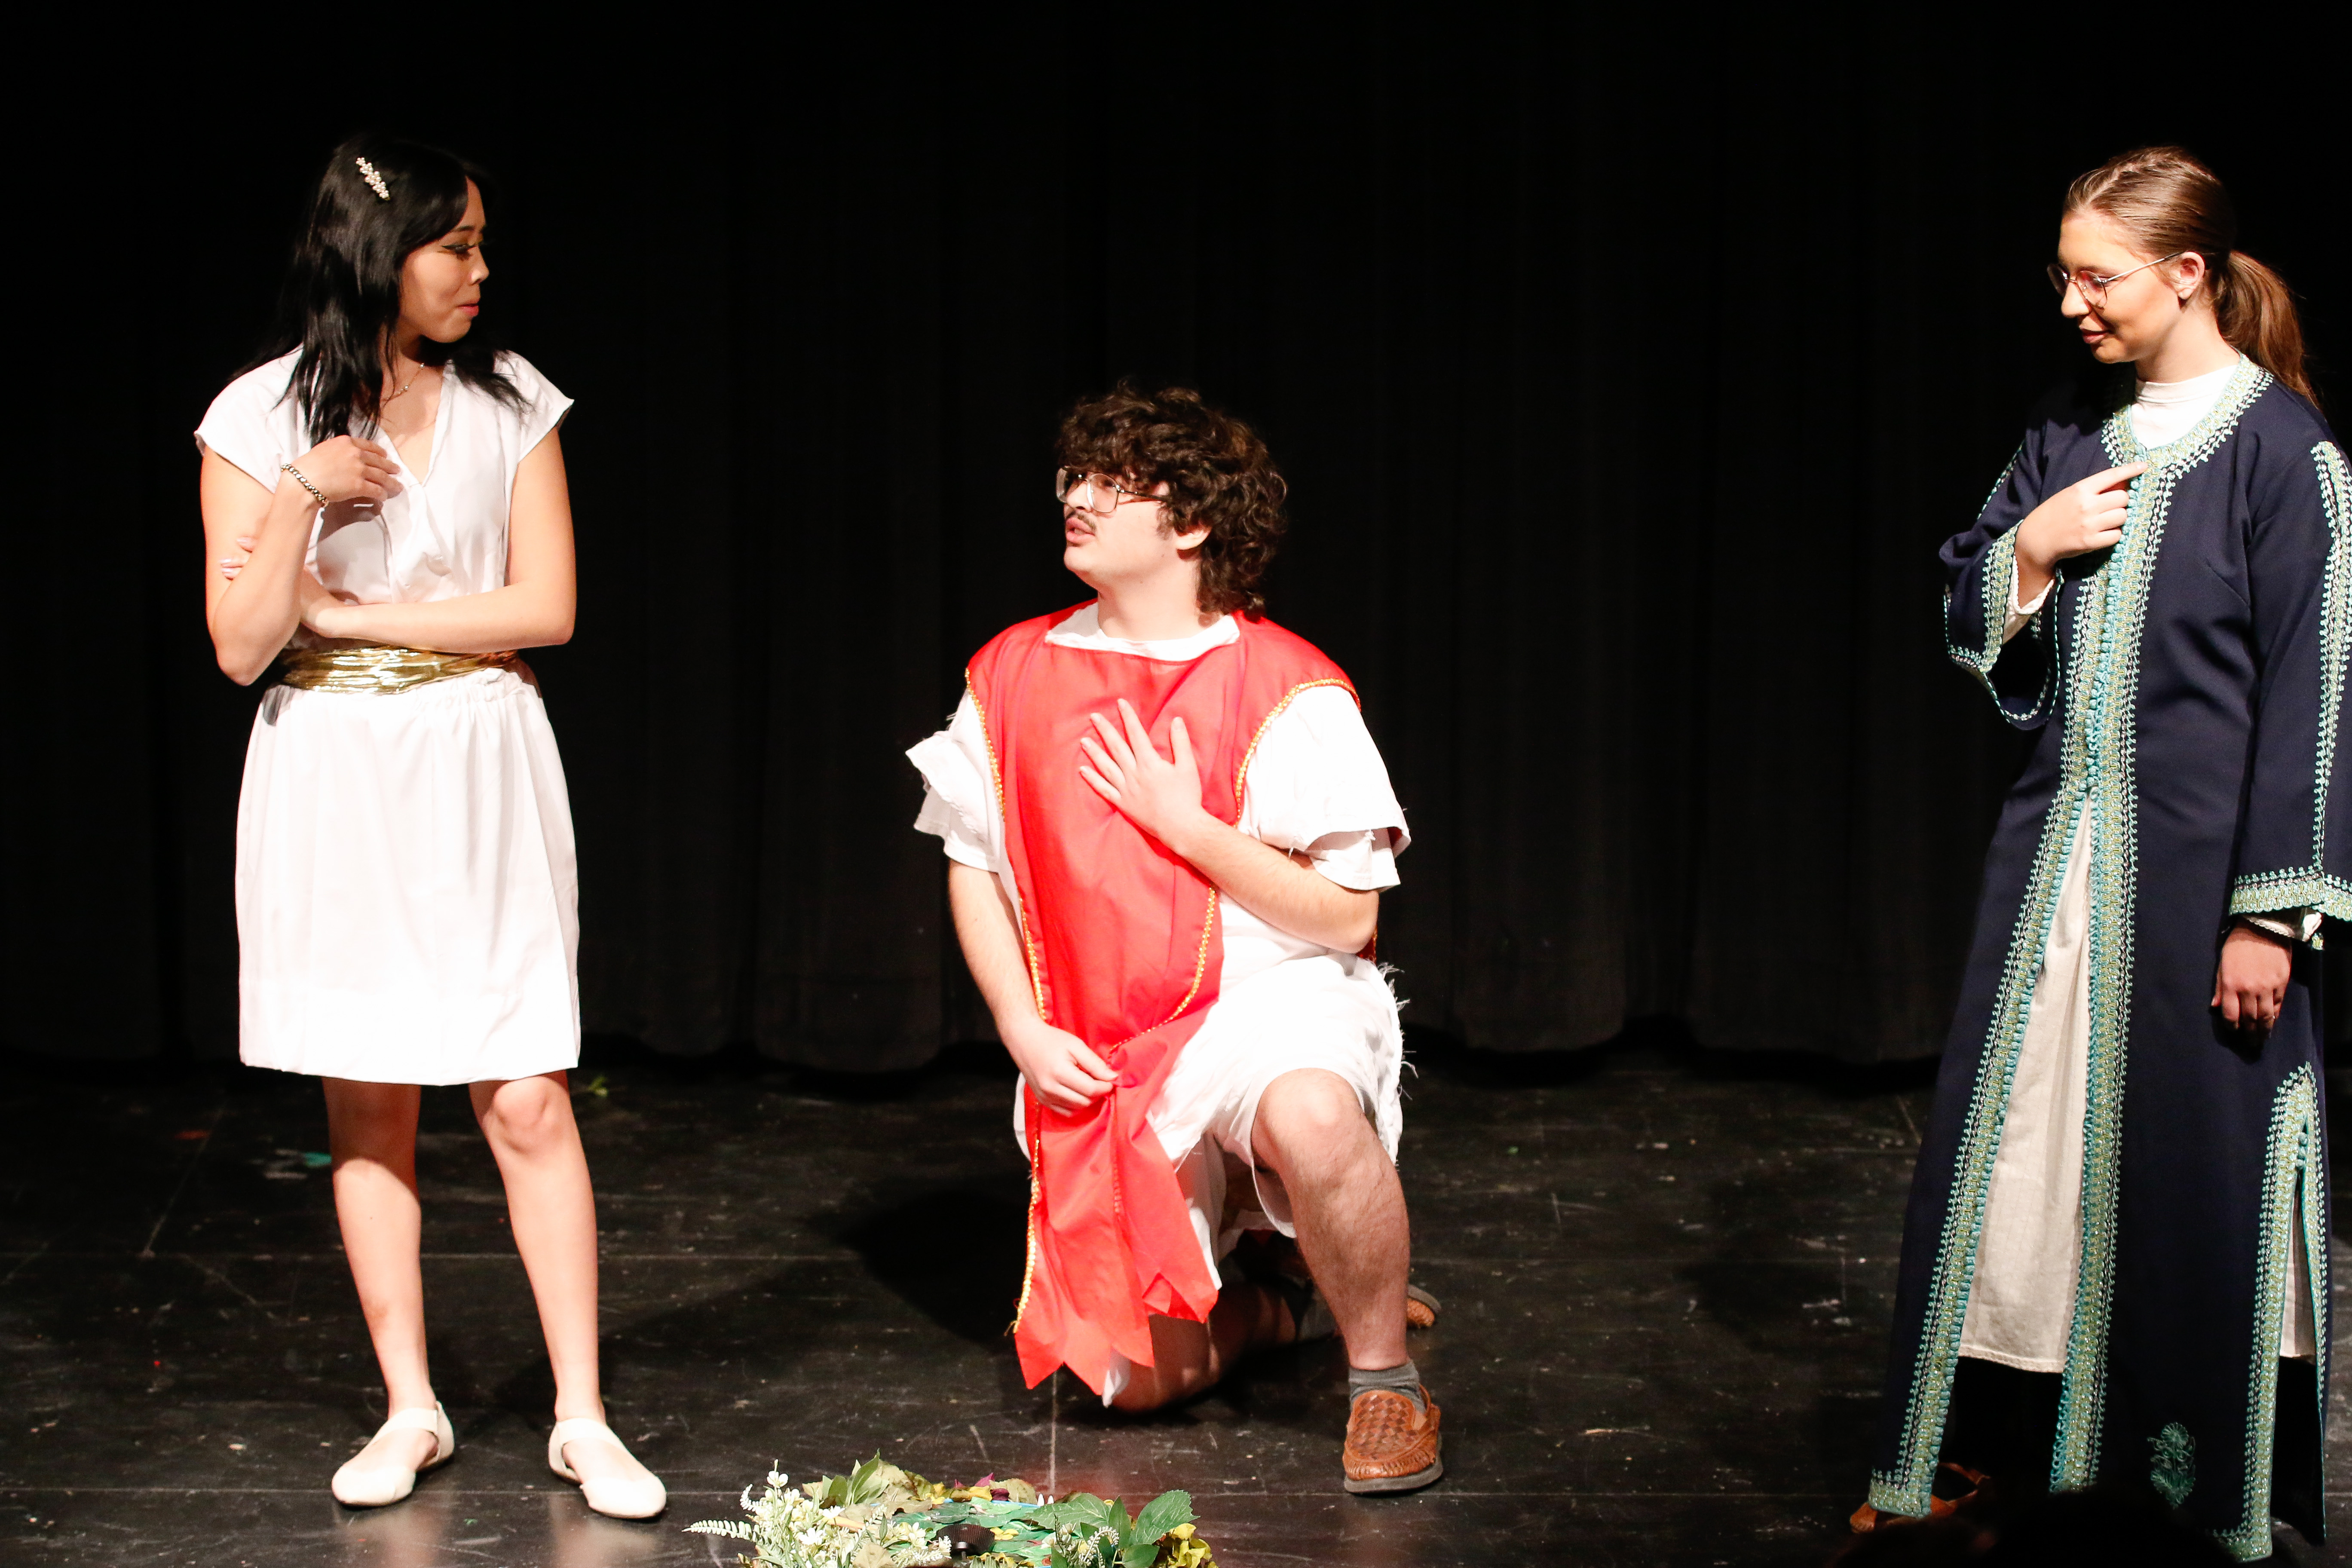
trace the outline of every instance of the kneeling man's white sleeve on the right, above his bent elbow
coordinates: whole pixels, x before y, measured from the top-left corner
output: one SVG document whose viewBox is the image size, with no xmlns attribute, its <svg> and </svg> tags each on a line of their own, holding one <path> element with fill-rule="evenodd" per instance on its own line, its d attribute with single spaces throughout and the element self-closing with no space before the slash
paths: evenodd
<svg viewBox="0 0 2352 1568">
<path fill-rule="evenodd" d="M 1310 849 L 1331 835 L 1381 827 L 1395 851 L 1409 842 L 1388 764 L 1343 686 L 1301 691 L 1265 726 L 1244 804 L 1249 832 L 1277 849 Z"/>
</svg>

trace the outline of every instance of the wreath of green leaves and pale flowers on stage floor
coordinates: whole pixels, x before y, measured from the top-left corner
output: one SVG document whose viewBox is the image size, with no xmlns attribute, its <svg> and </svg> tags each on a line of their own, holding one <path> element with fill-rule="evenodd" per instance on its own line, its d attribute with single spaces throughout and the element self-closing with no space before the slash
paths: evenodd
<svg viewBox="0 0 2352 1568">
<path fill-rule="evenodd" d="M 1040 1497 L 1028 1481 L 924 1481 L 882 1455 L 847 1476 L 790 1483 L 769 1472 L 743 1488 L 750 1523 L 706 1519 L 687 1530 L 750 1544 L 743 1568 L 1216 1568 L 1192 1530 L 1190 1493 L 1160 1493 L 1129 1514 L 1117 1497 Z"/>
</svg>

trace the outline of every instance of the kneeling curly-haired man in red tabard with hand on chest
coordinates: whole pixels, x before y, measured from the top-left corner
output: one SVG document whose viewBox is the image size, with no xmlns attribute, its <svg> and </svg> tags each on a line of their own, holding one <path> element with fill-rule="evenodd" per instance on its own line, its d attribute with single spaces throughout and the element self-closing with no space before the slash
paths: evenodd
<svg viewBox="0 0 2352 1568">
<path fill-rule="evenodd" d="M 1096 597 L 1000 632 L 908 752 L 1021 1067 L 1023 1375 L 1150 1410 L 1338 1333 L 1345 1488 L 1428 1486 L 1437 1406 L 1404 1333 L 1435 1302 L 1406 1286 L 1404 1041 L 1371 957 L 1404 813 L 1355 686 L 1263 618 L 1265 444 L 1190 390 L 1122 386 L 1058 456 L 1063 564 Z"/>
</svg>

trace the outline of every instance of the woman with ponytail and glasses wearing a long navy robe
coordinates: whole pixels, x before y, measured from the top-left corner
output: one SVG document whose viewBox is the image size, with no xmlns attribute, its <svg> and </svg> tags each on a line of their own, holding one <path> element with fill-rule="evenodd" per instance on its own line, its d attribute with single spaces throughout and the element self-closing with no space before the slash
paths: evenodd
<svg viewBox="0 0 2352 1568">
<path fill-rule="evenodd" d="M 1858 1530 L 1990 1469 L 2152 1486 L 2241 1561 L 2272 1516 L 2321 1533 L 2352 480 L 2286 287 L 2232 242 L 2178 148 L 2074 181 L 2051 282 L 2096 364 L 1943 548 L 1950 654 L 2034 748 L 1912 1180 Z"/>
</svg>

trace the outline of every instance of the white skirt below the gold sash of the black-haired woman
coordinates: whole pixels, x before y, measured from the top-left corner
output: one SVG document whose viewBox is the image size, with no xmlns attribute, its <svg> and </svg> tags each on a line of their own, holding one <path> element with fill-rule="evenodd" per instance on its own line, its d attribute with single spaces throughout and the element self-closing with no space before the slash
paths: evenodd
<svg viewBox="0 0 2352 1568">
<path fill-rule="evenodd" d="M 369 1084 L 579 1065 L 579 870 L 539 691 L 273 686 L 238 799 L 238 1053 Z"/>
</svg>

